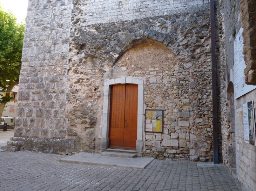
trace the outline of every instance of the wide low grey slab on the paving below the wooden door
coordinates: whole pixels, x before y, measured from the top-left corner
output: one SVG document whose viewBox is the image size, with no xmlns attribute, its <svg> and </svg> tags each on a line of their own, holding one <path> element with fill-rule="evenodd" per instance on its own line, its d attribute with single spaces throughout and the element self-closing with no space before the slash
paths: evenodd
<svg viewBox="0 0 256 191">
<path fill-rule="evenodd" d="M 136 157 L 120 158 L 112 156 L 101 156 L 99 153 L 79 153 L 76 155 L 64 157 L 60 159 L 60 163 L 66 164 L 83 164 L 87 166 L 99 167 L 117 167 L 117 168 L 136 168 L 144 169 L 152 162 L 153 158 Z"/>
</svg>

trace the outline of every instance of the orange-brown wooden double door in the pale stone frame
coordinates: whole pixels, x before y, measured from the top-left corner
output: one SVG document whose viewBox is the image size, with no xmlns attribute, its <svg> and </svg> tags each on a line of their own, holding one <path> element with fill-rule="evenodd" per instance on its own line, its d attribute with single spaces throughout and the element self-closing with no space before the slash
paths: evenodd
<svg viewBox="0 0 256 191">
<path fill-rule="evenodd" d="M 138 85 L 110 89 L 109 148 L 136 150 Z"/>
</svg>

